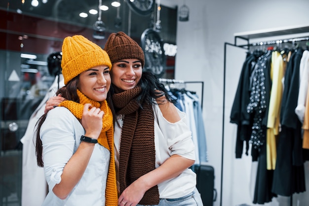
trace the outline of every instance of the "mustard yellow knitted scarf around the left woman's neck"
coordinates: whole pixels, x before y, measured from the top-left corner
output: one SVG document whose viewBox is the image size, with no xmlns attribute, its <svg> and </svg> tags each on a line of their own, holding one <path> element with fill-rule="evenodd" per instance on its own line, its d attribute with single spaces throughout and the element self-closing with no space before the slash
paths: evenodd
<svg viewBox="0 0 309 206">
<path fill-rule="evenodd" d="M 81 119 L 84 104 L 91 103 L 92 106 L 98 107 L 104 111 L 103 116 L 103 127 L 101 134 L 98 138 L 99 144 L 106 147 L 111 152 L 109 172 L 107 176 L 106 191 L 105 191 L 105 205 L 106 206 L 117 206 L 118 195 L 116 186 L 116 167 L 115 167 L 115 155 L 114 155 L 114 125 L 113 125 L 113 114 L 106 101 L 102 103 L 95 102 L 87 98 L 79 90 L 77 90 L 77 95 L 79 97 L 79 102 L 64 101 L 59 104 L 59 106 L 64 106 L 68 108 L 77 119 Z"/>
</svg>

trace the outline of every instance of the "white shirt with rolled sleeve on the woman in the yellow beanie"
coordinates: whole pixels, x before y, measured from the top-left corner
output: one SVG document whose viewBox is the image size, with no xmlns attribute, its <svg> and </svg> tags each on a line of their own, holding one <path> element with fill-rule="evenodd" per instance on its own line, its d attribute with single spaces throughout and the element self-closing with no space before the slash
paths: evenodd
<svg viewBox="0 0 309 206">
<path fill-rule="evenodd" d="M 95 144 L 87 168 L 65 200 L 59 199 L 53 187 L 61 181 L 66 163 L 76 152 L 80 136 L 85 131 L 77 118 L 65 107 L 59 106 L 47 113 L 41 126 L 45 178 L 49 192 L 42 206 L 104 206 L 110 152 Z"/>
</svg>

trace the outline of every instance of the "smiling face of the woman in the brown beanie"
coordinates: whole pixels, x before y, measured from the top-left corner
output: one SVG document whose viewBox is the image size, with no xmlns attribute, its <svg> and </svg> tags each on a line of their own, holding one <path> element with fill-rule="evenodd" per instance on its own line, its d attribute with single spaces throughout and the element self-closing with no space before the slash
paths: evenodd
<svg viewBox="0 0 309 206">
<path fill-rule="evenodd" d="M 142 63 L 138 59 L 123 59 L 115 62 L 111 78 L 116 93 L 134 88 L 142 76 Z"/>
</svg>

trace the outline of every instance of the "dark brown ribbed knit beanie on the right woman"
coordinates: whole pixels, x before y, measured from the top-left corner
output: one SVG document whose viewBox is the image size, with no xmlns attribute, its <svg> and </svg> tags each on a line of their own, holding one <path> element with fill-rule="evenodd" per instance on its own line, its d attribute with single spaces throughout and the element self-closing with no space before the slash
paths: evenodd
<svg viewBox="0 0 309 206">
<path fill-rule="evenodd" d="M 130 36 L 123 32 L 112 33 L 105 44 L 104 50 L 110 56 L 112 64 L 122 59 L 138 59 L 145 65 L 143 49 Z"/>
</svg>

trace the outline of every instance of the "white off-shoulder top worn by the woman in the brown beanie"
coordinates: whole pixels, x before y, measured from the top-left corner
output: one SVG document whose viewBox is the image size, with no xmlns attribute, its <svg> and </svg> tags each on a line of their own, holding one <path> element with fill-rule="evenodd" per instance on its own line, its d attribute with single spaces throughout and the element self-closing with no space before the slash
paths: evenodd
<svg viewBox="0 0 309 206">
<path fill-rule="evenodd" d="M 170 156 L 177 154 L 190 160 L 195 160 L 192 133 L 187 125 L 186 114 L 177 108 L 181 120 L 176 123 L 168 122 L 162 115 L 158 105 L 154 105 L 154 144 L 155 168 L 159 167 Z M 119 148 L 122 115 L 117 116 L 120 127 L 115 124 L 114 144 L 116 170 L 119 169 Z M 196 185 L 196 175 L 191 169 L 186 169 L 177 177 L 158 184 L 160 198 L 180 198 L 193 192 Z"/>
</svg>

